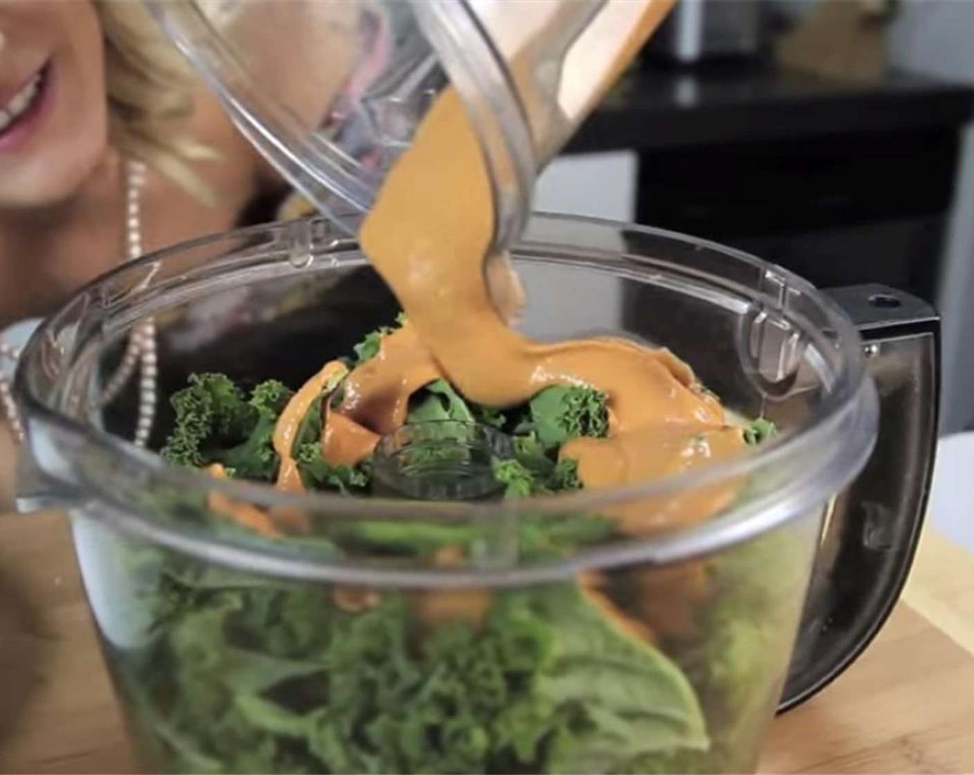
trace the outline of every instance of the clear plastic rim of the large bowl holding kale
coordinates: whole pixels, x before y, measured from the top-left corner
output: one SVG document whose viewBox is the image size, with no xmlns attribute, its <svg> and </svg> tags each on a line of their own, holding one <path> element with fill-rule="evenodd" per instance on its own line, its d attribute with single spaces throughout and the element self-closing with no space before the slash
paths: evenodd
<svg viewBox="0 0 974 775">
<path fill-rule="evenodd" d="M 675 232 L 595 218 L 560 215 L 536 215 L 535 218 L 542 223 L 547 221 L 554 224 L 587 223 L 602 227 L 623 227 L 627 232 L 638 232 L 687 246 L 722 252 L 729 258 L 744 261 L 758 269 L 769 268 L 766 262 L 747 253 Z M 302 221 L 296 223 L 303 224 Z M 239 241 L 239 244 L 244 244 L 248 236 L 266 234 L 269 229 L 279 227 L 281 224 L 249 227 L 153 252 L 95 280 L 94 283 L 79 291 L 72 301 L 93 291 L 97 292 L 100 286 L 118 282 L 130 274 L 144 272 L 145 267 L 153 262 L 165 262 L 169 257 L 174 258 L 180 253 L 222 242 Z M 532 245 L 531 242 L 526 242 L 519 247 L 530 251 Z M 534 244 L 534 246 L 534 250 L 543 250 L 543 245 Z M 336 241 L 329 246 L 329 252 L 348 251 L 355 247 L 355 243 L 351 240 Z M 226 260 L 225 256 L 223 260 Z M 268 263 L 266 255 L 249 260 L 265 265 Z M 363 263 L 364 259 L 361 258 L 343 260 L 341 256 L 337 256 L 331 265 L 352 266 Z M 203 282 L 198 275 L 206 274 L 207 266 L 211 273 L 212 266 L 205 264 L 188 273 L 157 282 L 154 287 L 146 291 L 132 293 L 129 298 L 119 302 L 116 308 L 111 310 L 108 318 L 124 318 L 127 324 L 131 324 L 145 315 L 159 314 L 164 309 L 171 308 L 173 303 L 181 300 L 180 294 L 174 291 L 185 287 L 187 283 L 191 285 L 195 277 L 197 282 Z M 121 501 L 108 483 L 102 483 L 103 485 L 89 483 L 94 486 L 90 503 L 96 506 L 99 518 L 106 522 L 114 524 L 131 535 L 146 538 L 181 553 L 246 570 L 304 580 L 393 583 L 400 586 L 435 586 L 441 583 L 448 583 L 451 586 L 484 584 L 507 586 L 564 578 L 587 568 L 632 562 L 651 564 L 682 562 L 719 551 L 801 517 L 808 509 L 823 506 L 835 491 L 858 473 L 872 452 L 875 442 L 878 402 L 875 386 L 862 360 L 857 331 L 841 309 L 829 298 L 815 291 L 810 284 L 778 267 L 774 267 L 774 271 L 785 277 L 791 287 L 813 297 L 827 313 L 830 325 L 837 336 L 837 341 L 830 342 L 830 346 L 838 349 L 841 357 L 842 368 L 836 374 L 832 389 L 821 404 L 815 407 L 808 421 L 800 429 L 783 433 L 755 452 L 731 461 L 649 482 L 500 503 L 424 503 L 423 505 L 424 517 L 428 521 L 446 518 L 452 521 L 482 521 L 487 517 L 516 520 L 520 516 L 527 515 L 552 516 L 594 511 L 641 498 L 665 498 L 680 491 L 742 477 L 764 468 L 786 465 L 789 461 L 803 460 L 813 463 L 799 467 L 797 469 L 799 475 L 790 479 L 784 487 L 742 506 L 734 507 L 707 523 L 678 528 L 660 538 L 633 539 L 605 549 L 589 550 L 576 558 L 558 562 L 519 565 L 501 570 L 383 570 L 374 566 L 356 567 L 354 564 L 334 558 L 296 556 L 287 551 L 286 542 L 261 540 L 259 543 L 244 543 L 182 525 L 164 523 L 150 514 L 139 512 L 133 504 Z M 41 365 L 44 339 L 58 329 L 62 319 L 69 314 L 72 301 L 69 301 L 60 312 L 49 318 L 35 332 L 23 353 L 15 391 L 28 420 L 28 432 L 35 423 L 55 427 L 59 436 L 70 438 L 79 445 L 96 447 L 106 453 L 109 459 L 124 460 L 127 468 L 131 469 L 131 466 L 135 465 L 147 475 L 150 483 L 163 485 L 172 491 L 179 490 L 202 495 L 220 492 L 234 500 L 259 507 L 298 508 L 313 514 L 332 513 L 340 515 L 343 519 L 415 519 L 415 501 L 352 498 L 326 493 L 292 494 L 283 493 L 267 484 L 214 480 L 204 472 L 170 465 L 152 452 L 132 446 L 117 436 L 86 426 L 67 415 L 49 398 L 40 395 L 36 379 L 31 375 Z M 106 327 L 97 328 L 106 330 Z M 76 347 L 74 353 L 79 349 L 81 348 Z M 838 453 L 823 454 L 822 449 L 836 446 L 837 438 L 843 440 Z M 819 450 L 817 453 L 816 449 Z M 831 486 L 823 488 L 823 482 L 831 483 Z M 70 486 L 69 483 L 61 484 Z M 78 506 L 85 510 L 85 504 L 78 504 Z M 444 577 L 449 580 L 444 582 Z"/>
</svg>

